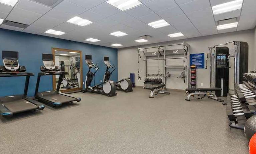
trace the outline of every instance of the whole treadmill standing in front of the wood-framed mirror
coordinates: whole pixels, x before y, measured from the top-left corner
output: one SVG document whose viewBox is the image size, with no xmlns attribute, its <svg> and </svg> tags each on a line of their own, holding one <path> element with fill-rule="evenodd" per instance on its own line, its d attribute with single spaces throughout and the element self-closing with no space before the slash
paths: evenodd
<svg viewBox="0 0 256 154">
<path fill-rule="evenodd" d="M 37 76 L 35 98 L 40 102 L 48 103 L 55 107 L 59 107 L 64 103 L 80 102 L 81 98 L 70 96 L 59 91 L 62 78 L 65 74 L 68 74 L 68 72 L 60 71 L 59 67 L 54 65 L 52 54 L 43 54 L 43 64 L 43 66 L 40 66 L 41 72 L 38 73 Z M 38 92 L 41 76 L 45 75 L 59 75 L 56 90 Z"/>
</svg>

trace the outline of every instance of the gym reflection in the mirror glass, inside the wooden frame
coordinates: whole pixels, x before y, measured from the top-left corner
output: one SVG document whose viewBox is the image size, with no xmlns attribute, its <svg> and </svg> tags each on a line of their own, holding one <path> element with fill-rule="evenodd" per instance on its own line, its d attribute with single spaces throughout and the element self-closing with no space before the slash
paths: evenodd
<svg viewBox="0 0 256 154">
<path fill-rule="evenodd" d="M 81 88 L 80 53 L 55 50 L 55 65 L 68 72 L 61 82 L 60 90 Z M 59 75 L 56 75 L 56 86 Z"/>
</svg>

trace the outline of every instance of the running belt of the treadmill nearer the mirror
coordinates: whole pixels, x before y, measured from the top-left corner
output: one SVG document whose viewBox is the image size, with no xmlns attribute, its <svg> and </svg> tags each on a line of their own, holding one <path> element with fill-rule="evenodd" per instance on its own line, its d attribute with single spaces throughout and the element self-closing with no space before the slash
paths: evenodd
<svg viewBox="0 0 256 154">
<path fill-rule="evenodd" d="M 77 101 L 76 98 L 68 97 L 68 96 L 61 95 L 61 94 L 45 95 L 45 96 L 40 96 L 40 98 L 44 99 L 44 100 L 49 100 L 52 102 L 57 102 L 57 103 L 59 103 L 59 102 L 60 103 L 69 103 L 69 102 Z"/>
</svg>

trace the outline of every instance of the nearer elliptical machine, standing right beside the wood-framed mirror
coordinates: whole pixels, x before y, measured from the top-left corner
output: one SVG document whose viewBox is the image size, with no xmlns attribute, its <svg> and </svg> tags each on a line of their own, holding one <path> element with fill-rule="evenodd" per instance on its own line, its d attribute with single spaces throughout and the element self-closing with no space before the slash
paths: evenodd
<svg viewBox="0 0 256 154">
<path fill-rule="evenodd" d="M 115 83 L 114 81 L 104 81 L 101 84 L 95 85 L 95 74 L 99 70 L 98 64 L 95 66 L 92 62 L 92 56 L 91 55 L 85 55 L 85 62 L 88 65 L 88 72 L 86 74 L 85 79 L 85 89 L 82 90 L 83 93 L 85 92 L 91 92 L 91 93 L 97 93 L 102 95 L 107 95 L 108 97 L 115 96 Z M 91 72 L 91 69 L 96 69 L 96 71 L 93 73 Z M 91 86 L 91 82 L 94 79 L 94 86 Z"/>
</svg>

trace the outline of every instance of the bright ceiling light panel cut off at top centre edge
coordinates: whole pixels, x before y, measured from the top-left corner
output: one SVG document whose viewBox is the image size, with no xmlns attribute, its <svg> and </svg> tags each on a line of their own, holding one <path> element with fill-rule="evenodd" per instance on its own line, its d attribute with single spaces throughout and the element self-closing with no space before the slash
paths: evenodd
<svg viewBox="0 0 256 154">
<path fill-rule="evenodd" d="M 113 5 L 114 7 L 117 7 L 122 11 L 142 4 L 138 0 L 108 0 L 107 3 Z"/>
</svg>

